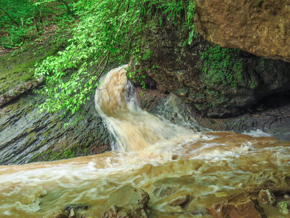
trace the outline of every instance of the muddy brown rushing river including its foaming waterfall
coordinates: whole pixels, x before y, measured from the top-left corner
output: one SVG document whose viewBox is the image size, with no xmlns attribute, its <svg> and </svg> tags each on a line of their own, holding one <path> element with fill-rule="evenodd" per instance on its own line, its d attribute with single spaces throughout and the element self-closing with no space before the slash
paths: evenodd
<svg viewBox="0 0 290 218">
<path fill-rule="evenodd" d="M 111 70 L 95 95 L 96 110 L 116 139 L 112 143 L 116 151 L 0 166 L 1 218 L 43 217 L 78 202 L 92 205 L 79 215 L 99 218 L 108 196 L 123 185 L 148 192 L 151 217 L 211 217 L 205 206 L 218 199 L 216 192 L 245 192 L 251 172 L 289 170 L 289 142 L 201 127 L 198 131 L 203 131 L 197 132 L 142 111 L 136 106 L 125 67 Z M 167 197 L 159 197 L 152 183 L 168 177 L 187 177 L 191 182 Z M 190 196 L 184 208 L 164 204 L 184 195 Z M 289 217 L 274 206 L 260 206 L 270 218 Z"/>
</svg>

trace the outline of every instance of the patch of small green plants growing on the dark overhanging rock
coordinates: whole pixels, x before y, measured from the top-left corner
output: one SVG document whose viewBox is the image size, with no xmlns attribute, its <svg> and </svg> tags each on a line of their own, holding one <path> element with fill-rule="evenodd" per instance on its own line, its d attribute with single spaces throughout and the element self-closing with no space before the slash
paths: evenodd
<svg viewBox="0 0 290 218">
<path fill-rule="evenodd" d="M 244 62 L 231 51 L 232 49 L 214 46 L 202 53 L 202 82 L 209 87 L 223 85 L 231 89 L 237 88 L 238 84 L 243 82 Z"/>
</svg>

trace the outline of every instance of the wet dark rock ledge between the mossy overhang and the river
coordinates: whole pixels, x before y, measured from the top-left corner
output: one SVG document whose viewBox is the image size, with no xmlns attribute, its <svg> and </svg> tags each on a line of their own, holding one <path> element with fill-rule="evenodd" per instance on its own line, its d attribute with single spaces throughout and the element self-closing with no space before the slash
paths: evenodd
<svg viewBox="0 0 290 218">
<path fill-rule="evenodd" d="M 165 116 L 171 122 L 183 123 L 188 128 L 192 126 L 197 131 L 202 131 L 197 125 L 214 131 L 235 131 L 238 133 L 253 131 L 253 134 L 256 129 L 261 129 L 280 140 L 290 140 L 290 93 L 288 91 L 257 102 L 239 116 L 209 118 L 178 98 L 174 99 L 173 105 L 171 104 L 169 109 L 158 107 L 167 101 L 169 95 L 161 93 L 157 89 L 142 91 L 137 87 L 136 90 L 139 107 L 148 112 Z M 140 95 L 141 92 L 142 95 Z M 166 104 L 168 105 L 168 103 Z"/>
</svg>

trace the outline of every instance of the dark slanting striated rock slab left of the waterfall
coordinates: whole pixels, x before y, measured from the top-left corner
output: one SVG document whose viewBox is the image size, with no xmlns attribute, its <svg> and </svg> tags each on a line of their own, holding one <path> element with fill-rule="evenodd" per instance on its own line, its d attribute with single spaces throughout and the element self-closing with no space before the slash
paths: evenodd
<svg viewBox="0 0 290 218">
<path fill-rule="evenodd" d="M 51 161 L 110 150 L 110 136 L 95 111 L 94 100 L 84 107 L 84 119 L 61 120 L 58 115 L 38 114 L 36 105 L 45 100 L 32 91 L 0 108 L 0 164 Z M 60 112 L 61 113 L 61 112 Z"/>
</svg>

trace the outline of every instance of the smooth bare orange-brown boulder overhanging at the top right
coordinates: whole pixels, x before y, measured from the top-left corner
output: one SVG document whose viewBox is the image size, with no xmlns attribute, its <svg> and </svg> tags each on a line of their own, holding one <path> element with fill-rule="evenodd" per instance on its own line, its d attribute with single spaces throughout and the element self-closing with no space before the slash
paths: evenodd
<svg viewBox="0 0 290 218">
<path fill-rule="evenodd" d="M 197 0 L 198 32 L 225 48 L 290 62 L 289 1 Z"/>
</svg>

